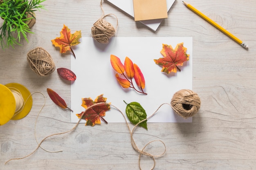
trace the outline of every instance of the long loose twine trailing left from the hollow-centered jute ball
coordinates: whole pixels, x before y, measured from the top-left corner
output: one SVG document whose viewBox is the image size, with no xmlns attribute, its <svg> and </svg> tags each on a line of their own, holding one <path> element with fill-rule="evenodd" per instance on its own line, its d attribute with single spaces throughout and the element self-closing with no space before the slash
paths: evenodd
<svg viewBox="0 0 256 170">
<path fill-rule="evenodd" d="M 37 146 L 36 149 L 35 149 L 34 151 L 32 151 L 29 155 L 27 155 L 27 156 L 25 156 L 25 157 L 20 157 L 20 158 L 9 159 L 7 162 L 5 162 L 5 164 L 8 163 L 8 162 L 11 161 L 11 160 L 24 159 L 24 158 L 26 158 L 26 157 L 31 156 L 32 154 L 34 154 L 34 152 L 36 152 L 36 150 L 37 150 L 39 147 L 41 147 L 41 144 L 43 143 L 43 141 L 45 141 L 45 140 L 46 140 L 47 138 L 49 138 L 49 137 L 52 137 L 52 136 L 55 136 L 55 135 L 62 135 L 62 134 L 71 132 L 72 130 L 76 129 L 76 127 L 79 125 L 79 123 L 80 123 L 80 121 L 81 121 L 83 115 L 86 113 L 86 111 L 89 110 L 90 108 L 94 107 L 94 106 L 99 105 L 99 104 L 105 104 L 105 103 L 104 103 L 104 102 L 100 102 L 100 103 L 94 104 L 94 105 L 92 105 L 92 106 L 89 106 L 89 107 L 82 113 L 82 115 L 81 115 L 79 121 L 76 123 L 76 125 L 75 125 L 72 129 L 67 130 L 67 131 L 65 131 L 65 132 L 54 133 L 54 134 L 52 134 L 52 135 L 49 135 L 49 136 L 45 137 L 44 139 L 42 139 L 42 140 L 40 141 L 40 143 L 38 143 L 38 141 L 36 140 L 37 143 L 38 143 L 38 146 Z M 164 104 L 168 104 L 168 103 L 164 103 Z M 162 107 L 164 104 L 161 104 L 161 105 L 157 108 L 157 110 L 156 110 L 150 117 L 153 117 L 153 116 L 155 115 L 155 113 L 157 113 L 157 111 L 159 110 L 159 108 Z M 168 104 L 168 105 L 170 105 L 170 104 Z M 127 121 L 127 119 L 126 119 L 126 117 L 125 117 L 125 115 L 124 115 L 124 113 L 122 113 L 122 111 L 121 111 L 119 108 L 117 108 L 116 106 L 114 106 L 114 105 L 111 105 L 111 106 L 113 106 L 114 108 L 116 108 L 116 109 L 123 115 L 123 117 L 124 117 L 124 119 L 125 119 L 125 121 L 126 121 L 126 125 L 127 125 L 127 127 L 128 127 L 129 133 L 130 133 L 130 139 L 131 139 L 132 147 L 133 147 L 137 152 L 139 152 L 139 169 L 142 170 L 142 169 L 141 169 L 141 166 L 140 166 L 141 155 L 146 155 L 146 156 L 149 156 L 149 157 L 151 157 L 151 158 L 153 159 L 154 164 L 153 164 L 153 167 L 150 169 L 150 170 L 153 170 L 153 169 L 155 168 L 155 157 L 160 157 L 160 156 L 164 155 L 164 153 L 166 152 L 166 146 L 165 146 L 164 142 L 161 141 L 161 140 L 153 140 L 153 141 L 148 142 L 148 144 L 146 144 L 146 145 L 144 146 L 144 148 L 143 148 L 142 150 L 140 150 L 140 149 L 138 148 L 138 146 L 136 145 L 134 139 L 133 139 L 133 132 L 134 132 L 135 128 L 136 128 L 141 122 L 150 119 L 150 117 L 148 117 L 148 118 L 146 118 L 146 119 L 144 119 L 144 120 L 141 120 L 141 121 L 140 121 L 138 124 L 136 124 L 136 125 L 134 126 L 134 128 L 131 130 L 131 129 L 130 129 L 130 126 L 129 126 L 129 124 L 128 124 L 128 121 Z M 42 109 L 41 109 L 41 110 L 42 110 Z M 41 110 L 40 110 L 40 111 L 41 111 Z M 36 121 L 37 121 L 37 119 L 38 119 L 39 114 L 40 114 L 40 112 L 39 112 L 38 115 L 37 115 Z M 35 125 L 35 127 L 36 127 L 36 125 Z M 35 133 L 35 136 L 36 136 L 36 133 Z M 164 145 L 164 152 L 163 152 L 162 154 L 160 154 L 160 155 L 152 155 L 152 154 L 150 154 L 150 153 L 144 151 L 145 148 L 146 148 L 149 144 L 151 144 L 151 143 L 153 143 L 153 142 L 155 142 L 155 141 L 159 141 L 159 142 L 161 142 L 161 143 Z M 41 148 L 42 148 L 42 147 L 41 147 Z M 44 149 L 44 150 L 45 150 L 45 149 Z M 46 150 L 46 151 L 47 151 L 47 150 Z M 61 152 L 61 151 L 62 151 L 62 150 L 56 151 L 56 152 Z M 50 151 L 48 151 L 48 152 L 50 152 Z"/>
</svg>

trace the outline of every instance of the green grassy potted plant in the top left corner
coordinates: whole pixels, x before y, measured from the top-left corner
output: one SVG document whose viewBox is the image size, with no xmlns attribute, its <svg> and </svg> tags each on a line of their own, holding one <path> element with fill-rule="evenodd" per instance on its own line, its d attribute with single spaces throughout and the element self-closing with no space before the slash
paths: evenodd
<svg viewBox="0 0 256 170">
<path fill-rule="evenodd" d="M 45 0 L 0 0 L 0 17 L 3 20 L 0 27 L 0 44 L 2 49 L 13 45 L 21 45 L 23 36 L 28 42 L 27 33 L 32 33 L 37 9 L 44 9 Z"/>
</svg>

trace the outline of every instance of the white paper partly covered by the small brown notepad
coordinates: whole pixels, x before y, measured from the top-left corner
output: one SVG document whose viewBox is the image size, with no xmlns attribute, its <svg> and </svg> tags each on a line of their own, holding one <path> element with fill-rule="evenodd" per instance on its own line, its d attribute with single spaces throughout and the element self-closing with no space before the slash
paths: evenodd
<svg viewBox="0 0 256 170">
<path fill-rule="evenodd" d="M 133 11 L 133 0 L 107 0 L 108 2 L 112 3 L 119 9 L 123 10 L 124 12 L 128 13 L 130 16 L 134 18 L 134 11 Z M 171 6 L 175 0 L 166 0 L 167 11 L 171 9 Z M 161 22 L 164 19 L 156 19 L 156 20 L 144 20 L 140 21 L 142 24 L 148 26 L 148 28 L 156 31 Z"/>
</svg>

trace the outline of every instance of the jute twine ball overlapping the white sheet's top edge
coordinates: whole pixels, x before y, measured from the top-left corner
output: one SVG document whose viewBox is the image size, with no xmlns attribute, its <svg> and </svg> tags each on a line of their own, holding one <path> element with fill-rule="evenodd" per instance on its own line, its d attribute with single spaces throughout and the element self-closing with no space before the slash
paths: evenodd
<svg viewBox="0 0 256 170">
<path fill-rule="evenodd" d="M 99 43 L 107 44 L 108 40 L 115 35 L 115 32 L 114 26 L 103 18 L 99 19 L 92 26 L 92 38 Z"/>
</svg>

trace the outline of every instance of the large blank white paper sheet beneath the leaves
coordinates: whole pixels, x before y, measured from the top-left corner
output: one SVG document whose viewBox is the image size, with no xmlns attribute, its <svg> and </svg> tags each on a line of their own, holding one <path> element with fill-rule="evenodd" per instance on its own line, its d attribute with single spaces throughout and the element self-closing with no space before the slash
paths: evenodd
<svg viewBox="0 0 256 170">
<path fill-rule="evenodd" d="M 148 117 L 163 103 L 170 103 L 173 94 L 181 89 L 192 90 L 192 38 L 191 37 L 113 37 L 108 44 L 100 44 L 93 38 L 81 38 L 81 43 L 72 47 L 76 59 L 71 55 L 71 70 L 76 80 L 71 85 L 71 121 L 79 119 L 76 113 L 85 109 L 81 106 L 82 99 L 91 97 L 93 100 L 103 94 L 107 102 L 119 108 L 125 114 L 126 103 L 139 102 L 146 110 Z M 160 51 L 162 44 L 172 45 L 184 42 L 189 54 L 189 61 L 180 66 L 177 73 L 161 72 L 162 67 L 155 64 L 154 59 L 163 57 Z M 116 72 L 110 64 L 110 55 L 116 55 L 124 63 L 129 57 L 144 74 L 148 95 L 141 95 L 135 90 L 122 88 L 116 80 Z M 111 107 L 104 117 L 109 123 L 125 122 L 124 117 Z M 127 119 L 128 120 L 128 119 Z M 82 121 L 85 122 L 85 121 Z M 163 105 L 148 122 L 192 122 L 192 117 L 183 119 L 173 112 L 171 106 Z"/>
</svg>

